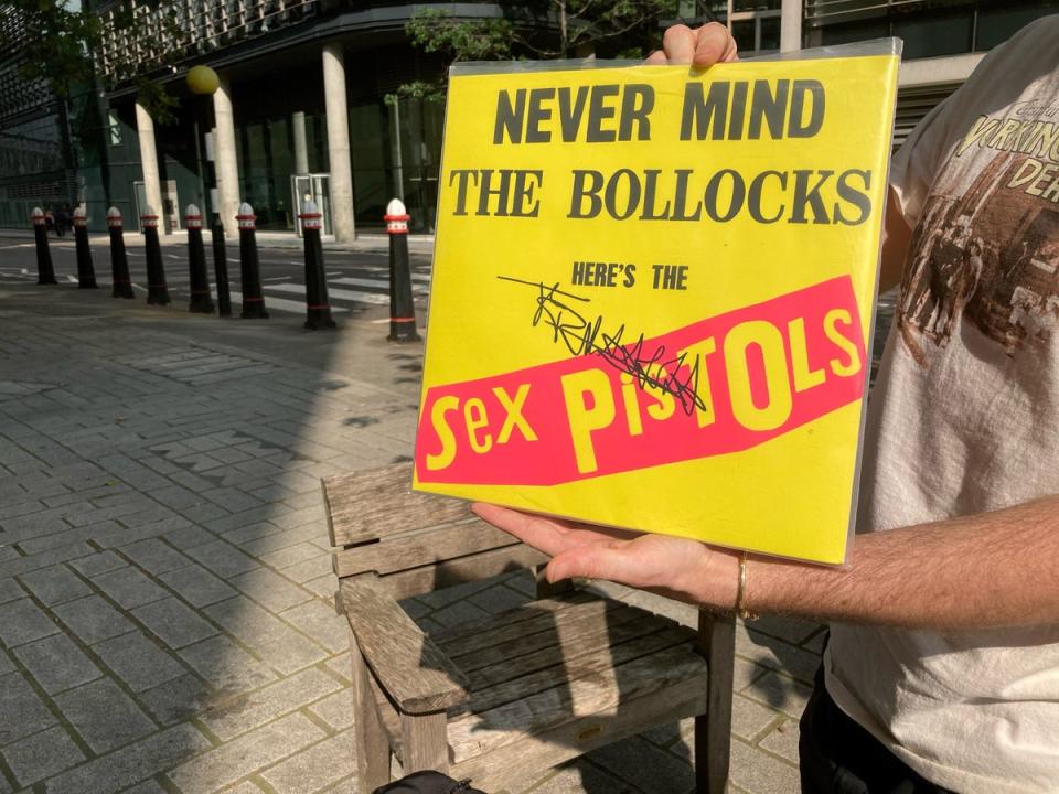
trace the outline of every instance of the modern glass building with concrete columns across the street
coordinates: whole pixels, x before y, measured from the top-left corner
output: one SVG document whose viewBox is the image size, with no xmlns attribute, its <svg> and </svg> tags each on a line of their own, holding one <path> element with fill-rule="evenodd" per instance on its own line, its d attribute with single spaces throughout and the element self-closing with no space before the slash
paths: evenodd
<svg viewBox="0 0 1059 794">
<path fill-rule="evenodd" d="M 220 213 L 234 232 L 236 207 L 248 201 L 259 228 L 293 234 L 299 203 L 310 196 L 324 212 L 325 233 L 344 240 L 379 228 L 387 202 L 398 196 L 413 230 L 432 230 L 442 107 L 395 98 L 400 85 L 436 81 L 443 68 L 405 32 L 422 3 L 136 2 L 136 36 L 114 24 L 128 3 L 90 7 L 109 31 L 96 53 L 108 90 L 58 100 L 45 86 L 17 79 L 17 55 L 0 58 L 0 225 L 24 226 L 34 203 L 65 202 L 85 203 L 100 229 L 108 205 L 129 217 L 150 205 L 175 230 L 194 203 Z M 512 8 L 426 4 L 459 19 L 498 18 Z M 744 56 L 900 36 L 901 140 L 986 51 L 1059 12 L 1059 0 L 680 0 L 675 10 L 687 21 L 726 21 Z M 659 20 L 659 32 L 670 22 Z M 151 66 L 162 62 L 164 68 Z M 186 73 L 199 64 L 220 75 L 212 96 L 188 88 Z M 159 112 L 141 101 L 136 81 L 145 77 L 178 104 Z"/>
</svg>

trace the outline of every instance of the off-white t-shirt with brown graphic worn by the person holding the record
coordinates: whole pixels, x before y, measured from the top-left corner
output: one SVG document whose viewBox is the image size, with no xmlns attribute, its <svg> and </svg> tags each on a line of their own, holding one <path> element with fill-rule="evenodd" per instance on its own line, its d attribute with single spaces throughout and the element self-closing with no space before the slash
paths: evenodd
<svg viewBox="0 0 1059 794">
<path fill-rule="evenodd" d="M 891 181 L 914 233 L 858 532 L 1059 494 L 1059 15 L 990 53 Z M 838 706 L 928 780 L 1059 792 L 1059 625 L 834 625 L 824 669 Z"/>
</svg>

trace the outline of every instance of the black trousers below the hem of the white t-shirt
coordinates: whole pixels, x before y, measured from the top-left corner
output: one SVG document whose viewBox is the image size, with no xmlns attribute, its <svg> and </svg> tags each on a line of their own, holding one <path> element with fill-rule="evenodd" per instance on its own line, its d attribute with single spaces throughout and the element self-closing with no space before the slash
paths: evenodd
<svg viewBox="0 0 1059 794">
<path fill-rule="evenodd" d="M 953 794 L 849 719 L 824 688 L 823 668 L 799 727 L 802 794 Z"/>
</svg>

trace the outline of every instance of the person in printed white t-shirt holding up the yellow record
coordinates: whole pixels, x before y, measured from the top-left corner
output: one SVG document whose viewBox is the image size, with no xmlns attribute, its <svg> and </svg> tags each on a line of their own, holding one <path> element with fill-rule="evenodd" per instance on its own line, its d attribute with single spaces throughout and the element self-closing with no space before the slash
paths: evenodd
<svg viewBox="0 0 1059 794">
<path fill-rule="evenodd" d="M 801 722 L 803 792 L 1059 791 L 1059 180 L 1044 178 L 1057 40 L 1059 15 L 1045 17 L 993 50 L 895 155 L 880 289 L 902 293 L 847 566 L 474 507 L 550 555 L 549 581 L 830 621 Z M 677 25 L 649 61 L 734 56 L 723 26 Z M 1020 169 L 1040 179 L 1019 183 Z M 958 232 L 1025 244 L 1025 264 L 1005 273 L 982 243 L 935 245 Z M 918 310 L 932 282 L 967 286 L 940 323 Z"/>
</svg>

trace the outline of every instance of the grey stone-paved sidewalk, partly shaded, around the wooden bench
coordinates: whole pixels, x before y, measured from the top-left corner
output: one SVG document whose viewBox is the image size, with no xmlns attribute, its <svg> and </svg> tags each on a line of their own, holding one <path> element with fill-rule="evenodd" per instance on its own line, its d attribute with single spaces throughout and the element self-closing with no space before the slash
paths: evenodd
<svg viewBox="0 0 1059 794">
<path fill-rule="evenodd" d="M 0 794 L 356 791 L 319 478 L 410 454 L 421 346 L 299 325 L 0 282 Z M 446 625 L 527 593 L 408 608 Z M 737 642 L 736 791 L 796 792 L 820 629 Z M 688 731 L 512 788 L 687 792 Z"/>
</svg>

